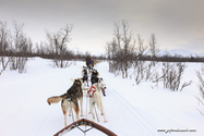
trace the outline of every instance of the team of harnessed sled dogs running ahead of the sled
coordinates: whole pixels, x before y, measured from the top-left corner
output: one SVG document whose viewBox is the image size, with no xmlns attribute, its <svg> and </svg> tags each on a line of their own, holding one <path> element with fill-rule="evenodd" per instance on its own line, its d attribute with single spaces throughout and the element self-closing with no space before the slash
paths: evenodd
<svg viewBox="0 0 204 136">
<path fill-rule="evenodd" d="M 67 126 L 67 113 L 69 110 L 69 116 L 71 116 L 72 109 L 75 111 L 76 120 L 79 120 L 79 113 L 81 111 L 81 116 L 83 116 L 83 94 L 87 98 L 89 98 L 89 114 L 93 115 L 93 121 L 95 121 L 95 113 L 94 107 L 96 104 L 98 111 L 100 111 L 101 115 L 104 116 L 104 122 L 107 122 L 105 112 L 104 112 L 104 104 L 101 99 L 101 92 L 105 95 L 106 84 L 99 76 L 97 70 L 93 69 L 92 66 L 82 67 L 82 78 L 70 78 L 73 82 L 73 85 L 67 90 L 65 94 L 61 96 L 53 96 L 47 99 L 49 104 L 58 103 L 61 101 L 61 109 L 64 115 L 64 125 Z M 88 76 L 91 76 L 92 86 L 88 86 Z M 86 84 L 88 88 L 85 88 L 84 85 Z M 84 90 L 84 91 L 83 91 Z M 87 92 L 86 92 L 87 90 Z M 100 92 L 101 91 L 101 92 Z M 79 106 L 80 103 L 80 106 Z"/>
</svg>

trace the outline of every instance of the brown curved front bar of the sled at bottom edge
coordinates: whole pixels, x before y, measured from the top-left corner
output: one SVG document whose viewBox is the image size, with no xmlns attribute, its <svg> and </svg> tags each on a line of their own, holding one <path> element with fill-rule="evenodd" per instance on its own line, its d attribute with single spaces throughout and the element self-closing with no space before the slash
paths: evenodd
<svg viewBox="0 0 204 136">
<path fill-rule="evenodd" d="M 79 126 L 91 126 L 91 128 L 88 129 L 82 129 Z M 56 133 L 53 136 L 63 136 L 64 134 L 67 134 L 68 132 L 72 131 L 73 128 L 77 127 L 80 131 L 82 131 L 82 133 L 86 133 L 88 131 L 91 131 L 92 128 L 96 128 L 100 132 L 103 132 L 104 134 L 108 135 L 108 136 L 117 136 L 113 132 L 111 132 L 110 129 L 93 122 L 86 119 L 81 119 L 77 120 L 75 122 L 73 122 L 72 124 L 70 124 L 69 126 L 65 126 L 64 128 L 62 128 L 61 131 L 59 131 L 58 133 Z"/>
</svg>

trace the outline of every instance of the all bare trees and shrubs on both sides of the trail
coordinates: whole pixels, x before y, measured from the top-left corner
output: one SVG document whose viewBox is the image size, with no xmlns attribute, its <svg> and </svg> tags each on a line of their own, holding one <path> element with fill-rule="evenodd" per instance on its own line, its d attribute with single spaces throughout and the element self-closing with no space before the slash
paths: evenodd
<svg viewBox="0 0 204 136">
<path fill-rule="evenodd" d="M 51 59 L 53 67 L 68 67 L 71 65 L 71 60 L 75 58 L 84 60 L 86 55 L 91 55 L 88 51 L 82 53 L 79 50 L 74 52 L 68 49 L 73 29 L 72 24 L 67 24 L 55 33 L 47 30 L 47 40 L 40 44 L 33 44 L 24 28 L 25 24 L 13 21 L 11 29 L 7 22 L 0 21 L 0 65 L 2 67 L 0 75 L 8 66 L 11 71 L 26 72 L 25 64 L 29 58 L 34 57 Z M 185 62 L 204 62 L 204 58 L 170 55 L 168 52 L 158 55 L 158 47 L 155 34 L 152 34 L 145 44 L 141 35 L 133 36 L 128 22 L 121 20 L 113 24 L 113 37 L 106 44 L 106 54 L 91 57 L 94 60 L 107 60 L 109 72 L 116 76 L 122 75 L 123 78 L 134 78 L 136 85 L 142 81 L 151 81 L 156 86 L 158 83 L 163 83 L 164 88 L 172 91 L 181 91 L 191 85 L 192 81 L 181 83 L 184 69 L 188 66 Z M 163 62 L 160 72 L 158 72 L 157 62 Z M 196 74 L 201 91 L 196 99 L 204 106 L 203 66 Z M 203 114 L 202 111 L 200 112 Z"/>
</svg>

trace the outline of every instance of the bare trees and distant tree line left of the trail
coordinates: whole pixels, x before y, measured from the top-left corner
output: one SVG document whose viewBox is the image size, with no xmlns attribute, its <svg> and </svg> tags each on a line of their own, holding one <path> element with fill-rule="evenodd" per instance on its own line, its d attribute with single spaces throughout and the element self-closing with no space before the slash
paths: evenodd
<svg viewBox="0 0 204 136">
<path fill-rule="evenodd" d="M 72 24 L 67 24 L 58 32 L 46 32 L 46 40 L 34 44 L 32 38 L 24 32 L 25 24 L 12 22 L 12 28 L 9 28 L 7 22 L 0 21 L 0 65 L 2 70 L 0 74 L 9 66 L 10 70 L 16 70 L 19 73 L 26 72 L 25 64 L 29 58 L 40 57 L 51 59 L 53 67 L 67 67 L 70 60 L 77 58 L 84 60 L 88 51 L 85 53 L 79 50 L 74 52 L 68 49 L 71 41 Z M 94 59 L 103 59 L 105 57 L 93 55 Z"/>
</svg>

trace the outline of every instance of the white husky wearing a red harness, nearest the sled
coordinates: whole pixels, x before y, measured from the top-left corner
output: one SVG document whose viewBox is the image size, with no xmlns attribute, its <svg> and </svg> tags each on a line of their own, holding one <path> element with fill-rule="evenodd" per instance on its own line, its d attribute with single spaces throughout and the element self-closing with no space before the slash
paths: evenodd
<svg viewBox="0 0 204 136">
<path fill-rule="evenodd" d="M 98 111 L 100 111 L 101 115 L 104 116 L 104 122 L 107 122 L 100 95 L 100 90 L 104 89 L 106 89 L 106 84 L 101 78 L 98 78 L 98 83 L 92 85 L 92 87 L 87 91 L 87 97 L 89 97 L 89 113 L 93 115 L 93 121 L 95 121 L 95 114 L 93 112 L 93 109 L 94 104 L 96 103 Z"/>
</svg>

